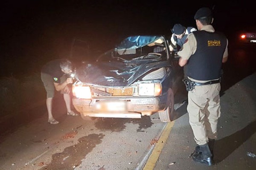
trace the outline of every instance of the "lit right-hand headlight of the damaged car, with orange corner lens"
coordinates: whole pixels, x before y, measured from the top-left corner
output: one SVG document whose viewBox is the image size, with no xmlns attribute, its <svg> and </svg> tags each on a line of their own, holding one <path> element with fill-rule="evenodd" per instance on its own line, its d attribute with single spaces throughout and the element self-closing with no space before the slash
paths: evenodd
<svg viewBox="0 0 256 170">
<path fill-rule="evenodd" d="M 140 96 L 159 96 L 162 94 L 161 83 L 142 83 L 139 85 Z"/>
</svg>

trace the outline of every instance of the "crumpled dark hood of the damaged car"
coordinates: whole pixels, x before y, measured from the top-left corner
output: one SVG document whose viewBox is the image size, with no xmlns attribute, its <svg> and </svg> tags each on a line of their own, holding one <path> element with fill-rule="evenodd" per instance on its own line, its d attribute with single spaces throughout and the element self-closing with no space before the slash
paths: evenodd
<svg viewBox="0 0 256 170">
<path fill-rule="evenodd" d="M 90 85 L 125 87 L 137 81 L 148 71 L 166 66 L 170 66 L 169 61 L 84 63 L 76 70 L 76 79 Z"/>
</svg>

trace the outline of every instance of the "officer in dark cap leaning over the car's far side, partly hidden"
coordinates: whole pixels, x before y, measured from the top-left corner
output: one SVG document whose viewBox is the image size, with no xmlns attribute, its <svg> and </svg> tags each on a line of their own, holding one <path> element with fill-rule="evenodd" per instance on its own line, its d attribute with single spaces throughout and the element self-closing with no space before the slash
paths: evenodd
<svg viewBox="0 0 256 170">
<path fill-rule="evenodd" d="M 197 31 L 194 27 L 184 27 L 181 24 L 175 24 L 172 28 L 172 37 L 169 45 L 170 51 L 180 51 L 183 44 L 188 36 L 188 34 L 193 31 Z"/>
</svg>

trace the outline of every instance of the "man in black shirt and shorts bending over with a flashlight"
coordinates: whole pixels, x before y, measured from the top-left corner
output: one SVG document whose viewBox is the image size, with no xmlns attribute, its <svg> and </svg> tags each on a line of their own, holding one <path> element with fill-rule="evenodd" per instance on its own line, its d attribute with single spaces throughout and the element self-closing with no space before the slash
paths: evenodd
<svg viewBox="0 0 256 170">
<path fill-rule="evenodd" d="M 76 116 L 78 115 L 71 110 L 71 99 L 70 89 L 68 84 L 73 83 L 73 79 L 67 75 L 72 73 L 72 63 L 67 59 L 55 59 L 47 62 L 41 69 L 41 80 L 44 83 L 44 88 L 47 92 L 47 111 L 48 111 L 48 122 L 52 125 L 58 124 L 52 116 L 52 99 L 54 92 L 61 91 L 64 96 L 64 101 L 67 107 L 67 115 Z"/>
</svg>

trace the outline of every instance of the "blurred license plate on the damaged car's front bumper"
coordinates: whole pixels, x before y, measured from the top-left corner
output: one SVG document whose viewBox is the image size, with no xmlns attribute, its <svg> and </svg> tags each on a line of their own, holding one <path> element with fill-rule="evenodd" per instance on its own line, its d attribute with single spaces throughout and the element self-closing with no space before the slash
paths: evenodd
<svg viewBox="0 0 256 170">
<path fill-rule="evenodd" d="M 127 105 L 125 101 L 97 102 L 96 110 L 99 112 L 125 112 Z"/>
</svg>

